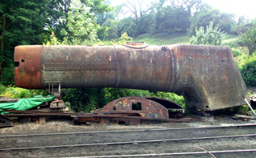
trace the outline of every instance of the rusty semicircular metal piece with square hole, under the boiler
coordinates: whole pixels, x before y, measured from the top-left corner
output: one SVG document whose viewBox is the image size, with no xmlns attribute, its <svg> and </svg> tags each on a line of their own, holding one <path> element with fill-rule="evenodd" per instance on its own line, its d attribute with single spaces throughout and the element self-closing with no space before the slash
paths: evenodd
<svg viewBox="0 0 256 158">
<path fill-rule="evenodd" d="M 171 112 L 184 113 L 184 109 L 167 99 L 130 96 L 106 104 L 98 114 L 126 114 L 138 115 L 142 118 L 169 119 Z"/>
</svg>

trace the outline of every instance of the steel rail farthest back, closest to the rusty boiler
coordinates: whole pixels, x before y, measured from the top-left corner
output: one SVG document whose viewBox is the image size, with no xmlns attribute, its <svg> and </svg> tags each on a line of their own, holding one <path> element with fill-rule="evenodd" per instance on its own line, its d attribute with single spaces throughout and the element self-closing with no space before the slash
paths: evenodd
<svg viewBox="0 0 256 158">
<path fill-rule="evenodd" d="M 202 128 L 155 128 L 155 129 L 138 129 L 138 130 L 124 130 L 124 131 L 99 131 L 99 132 L 64 132 L 64 133 L 41 133 L 41 134 L 28 134 L 28 135 L 6 135 L 3 137 L 20 137 L 20 136 L 56 136 L 56 135 L 79 135 L 79 134 L 97 134 L 97 133 L 115 133 L 115 132 L 154 132 L 154 131 L 173 131 L 173 130 L 190 130 L 190 129 L 210 129 L 210 128 L 241 128 L 241 127 L 254 127 L 256 124 L 239 124 L 228 126 L 212 126 Z"/>
</svg>

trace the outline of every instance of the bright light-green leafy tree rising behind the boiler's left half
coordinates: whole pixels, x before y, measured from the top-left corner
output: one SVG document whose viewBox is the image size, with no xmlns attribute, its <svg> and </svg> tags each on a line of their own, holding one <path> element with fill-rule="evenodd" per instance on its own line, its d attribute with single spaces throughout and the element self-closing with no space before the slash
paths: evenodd
<svg viewBox="0 0 256 158">
<path fill-rule="evenodd" d="M 101 32 L 101 34 L 104 34 L 105 28 L 97 25 L 96 16 L 98 14 L 105 14 L 106 12 L 109 12 L 113 9 L 114 8 L 109 6 L 109 4 L 104 4 L 104 0 L 50 1 L 47 3 L 46 7 L 47 13 L 49 14 L 48 27 L 50 30 L 54 30 L 56 37 L 60 41 L 67 40 L 67 38 L 64 39 L 67 34 L 69 37 L 71 37 L 72 34 L 79 35 L 78 32 L 85 34 L 87 31 L 87 33 L 89 33 L 88 31 L 92 29 L 92 26 L 97 26 L 97 28 L 93 29 L 92 34 L 95 33 L 95 30 Z M 76 24 L 76 22 L 78 23 Z M 75 25 L 74 29 L 78 28 L 78 30 L 72 30 L 72 24 Z M 82 30 L 79 30 L 79 26 L 89 26 L 89 28 L 83 28 Z M 69 32 L 70 30 L 71 32 Z M 89 34 L 85 35 L 88 36 Z M 71 41 L 72 38 L 68 38 L 68 42 Z"/>
</svg>

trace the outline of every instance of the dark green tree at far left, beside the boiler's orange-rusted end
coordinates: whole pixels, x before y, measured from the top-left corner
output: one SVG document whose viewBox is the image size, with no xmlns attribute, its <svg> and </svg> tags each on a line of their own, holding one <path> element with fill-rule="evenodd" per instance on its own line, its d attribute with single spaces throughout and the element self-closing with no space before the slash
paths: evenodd
<svg viewBox="0 0 256 158">
<path fill-rule="evenodd" d="M 41 44 L 49 34 L 47 23 L 47 0 L 2 0 L 0 2 L 0 72 L 2 67 L 13 67 L 14 47 Z M 13 69 L 5 69 L 3 75 Z M 1 75 L 1 73 L 0 73 Z"/>
</svg>

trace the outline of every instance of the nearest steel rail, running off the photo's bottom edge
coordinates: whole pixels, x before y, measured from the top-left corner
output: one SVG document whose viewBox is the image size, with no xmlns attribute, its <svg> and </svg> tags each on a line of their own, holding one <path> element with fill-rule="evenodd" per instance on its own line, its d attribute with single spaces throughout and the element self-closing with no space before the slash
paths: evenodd
<svg viewBox="0 0 256 158">
<path fill-rule="evenodd" d="M 118 156 L 76 156 L 86 158 L 101 158 L 101 157 L 140 157 L 140 156 L 184 156 L 184 155 L 199 155 L 209 153 L 232 153 L 232 152 L 256 152 L 256 149 L 244 149 L 244 150 L 224 150 L 224 151 L 212 151 L 212 152 L 174 152 L 174 153 L 159 153 L 159 154 L 137 154 L 137 155 L 118 155 Z M 73 158 L 73 157 L 68 157 Z"/>
</svg>

